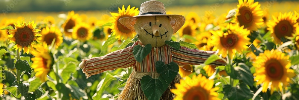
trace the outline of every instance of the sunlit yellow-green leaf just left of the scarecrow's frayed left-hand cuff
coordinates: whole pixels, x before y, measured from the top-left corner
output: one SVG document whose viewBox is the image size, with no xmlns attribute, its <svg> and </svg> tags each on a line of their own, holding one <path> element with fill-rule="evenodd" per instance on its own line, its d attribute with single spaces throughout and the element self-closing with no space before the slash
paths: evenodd
<svg viewBox="0 0 299 100">
<path fill-rule="evenodd" d="M 75 73 L 76 65 L 74 63 L 68 63 L 68 65 L 62 70 L 61 77 L 62 83 L 66 83 L 71 76 L 71 73 Z"/>
</svg>

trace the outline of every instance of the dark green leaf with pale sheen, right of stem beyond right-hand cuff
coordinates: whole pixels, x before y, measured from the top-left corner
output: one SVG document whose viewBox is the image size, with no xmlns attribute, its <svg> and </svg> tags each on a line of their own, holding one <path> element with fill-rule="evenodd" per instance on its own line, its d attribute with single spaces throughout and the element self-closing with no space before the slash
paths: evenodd
<svg viewBox="0 0 299 100">
<path fill-rule="evenodd" d="M 235 67 L 235 73 L 239 80 L 244 81 L 250 87 L 253 86 L 253 75 L 250 72 L 250 69 L 244 63 L 239 63 L 239 67 Z"/>
</svg>

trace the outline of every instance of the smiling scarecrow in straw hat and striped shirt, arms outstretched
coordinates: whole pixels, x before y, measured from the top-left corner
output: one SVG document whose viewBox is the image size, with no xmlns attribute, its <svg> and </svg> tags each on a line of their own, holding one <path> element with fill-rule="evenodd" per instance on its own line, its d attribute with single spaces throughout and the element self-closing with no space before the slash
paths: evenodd
<svg viewBox="0 0 299 100">
<path fill-rule="evenodd" d="M 151 78 L 160 76 L 155 68 L 157 61 L 165 64 L 174 62 L 179 66 L 200 65 L 210 55 L 216 53 L 216 51 L 189 49 L 184 46 L 174 49 L 165 44 L 165 41 L 170 41 L 172 35 L 184 25 L 185 18 L 182 15 L 167 15 L 164 4 L 160 1 L 151 0 L 142 3 L 139 15 L 120 18 L 119 22 L 136 32 L 139 40 L 123 50 L 114 51 L 102 57 L 82 59 L 79 64 L 87 78 L 103 71 L 133 67 L 134 71 L 129 75 L 124 89 L 118 95 L 117 99 L 119 100 L 147 100 L 141 89 L 141 79 L 147 75 Z M 135 58 L 134 47 L 145 47 L 148 44 L 152 46 L 149 48 L 148 54 L 145 57 Z M 222 60 L 216 60 L 210 65 L 219 66 L 226 65 L 226 63 Z M 162 92 L 160 99 L 172 100 L 175 96 L 170 92 L 170 89 L 175 88 L 175 83 L 179 83 L 180 79 L 182 78 L 177 73 L 170 82 L 169 88 L 164 93 Z"/>
</svg>

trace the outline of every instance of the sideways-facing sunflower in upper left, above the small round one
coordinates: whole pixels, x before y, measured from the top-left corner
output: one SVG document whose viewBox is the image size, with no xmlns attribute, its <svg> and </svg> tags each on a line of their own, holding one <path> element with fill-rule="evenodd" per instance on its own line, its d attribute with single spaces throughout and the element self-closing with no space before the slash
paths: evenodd
<svg viewBox="0 0 299 100">
<path fill-rule="evenodd" d="M 81 19 L 79 18 L 78 14 L 75 14 L 74 11 L 68 12 L 68 17 L 66 18 L 65 22 L 62 24 L 62 28 L 64 29 L 65 36 L 72 37 L 72 29 L 80 21 Z"/>
</svg>

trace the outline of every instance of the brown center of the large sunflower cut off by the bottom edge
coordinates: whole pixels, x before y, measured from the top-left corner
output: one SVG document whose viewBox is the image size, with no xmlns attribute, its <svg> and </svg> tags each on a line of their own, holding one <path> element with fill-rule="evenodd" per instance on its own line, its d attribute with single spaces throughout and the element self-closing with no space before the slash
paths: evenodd
<svg viewBox="0 0 299 100">
<path fill-rule="evenodd" d="M 191 87 L 191 89 L 184 94 L 183 98 L 184 100 L 208 100 L 209 99 L 206 90 L 204 90 L 201 87 Z"/>
</svg>

